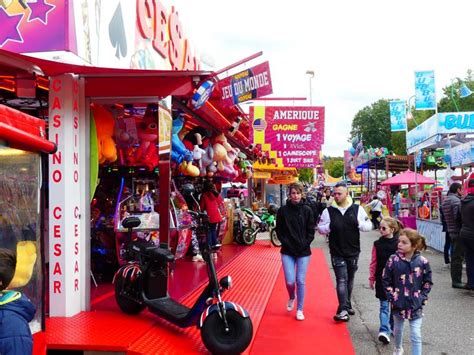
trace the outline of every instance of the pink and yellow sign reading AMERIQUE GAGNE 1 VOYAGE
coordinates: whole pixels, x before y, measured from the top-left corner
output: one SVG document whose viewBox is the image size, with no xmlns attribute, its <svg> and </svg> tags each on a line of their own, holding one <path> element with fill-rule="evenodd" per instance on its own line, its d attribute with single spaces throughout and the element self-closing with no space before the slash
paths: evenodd
<svg viewBox="0 0 474 355">
<path fill-rule="evenodd" d="M 314 168 L 324 143 L 324 107 L 250 107 L 250 141 L 285 167 Z"/>
</svg>

